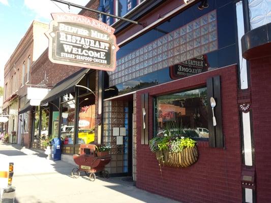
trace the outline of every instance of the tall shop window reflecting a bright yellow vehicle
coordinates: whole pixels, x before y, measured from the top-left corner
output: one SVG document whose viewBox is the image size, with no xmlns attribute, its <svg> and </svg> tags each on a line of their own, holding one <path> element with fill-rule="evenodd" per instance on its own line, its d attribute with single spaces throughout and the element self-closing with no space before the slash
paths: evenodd
<svg viewBox="0 0 271 203">
<path fill-rule="evenodd" d="M 79 98 L 77 144 L 89 144 L 95 139 L 95 96 L 88 94 Z"/>
</svg>

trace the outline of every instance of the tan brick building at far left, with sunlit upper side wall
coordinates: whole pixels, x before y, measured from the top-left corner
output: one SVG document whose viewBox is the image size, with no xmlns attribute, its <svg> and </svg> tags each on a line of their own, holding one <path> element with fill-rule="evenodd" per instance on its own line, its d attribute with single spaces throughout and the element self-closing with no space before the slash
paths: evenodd
<svg viewBox="0 0 271 203">
<path fill-rule="evenodd" d="M 6 126 L 10 142 L 11 131 L 16 131 L 17 138 L 13 142 L 20 144 L 22 137 L 25 137 L 25 145 L 28 143 L 31 128 L 27 123 L 30 117 L 19 116 L 18 111 L 27 103 L 26 91 L 27 84 L 31 84 L 31 65 L 47 46 L 48 41 L 43 35 L 47 29 L 47 24 L 33 21 L 5 65 L 4 110 L 12 115 Z"/>
</svg>

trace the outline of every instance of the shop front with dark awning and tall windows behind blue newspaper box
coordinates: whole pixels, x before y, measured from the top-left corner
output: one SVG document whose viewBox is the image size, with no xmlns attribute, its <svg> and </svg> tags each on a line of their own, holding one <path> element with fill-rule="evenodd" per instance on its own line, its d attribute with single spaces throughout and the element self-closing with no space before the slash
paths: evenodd
<svg viewBox="0 0 271 203">
<path fill-rule="evenodd" d="M 34 112 L 32 147 L 43 149 L 40 140 L 59 138 L 62 153 L 72 155 L 78 153 L 80 144 L 94 142 L 95 92 L 96 72 L 90 69 L 57 83 Z"/>
</svg>

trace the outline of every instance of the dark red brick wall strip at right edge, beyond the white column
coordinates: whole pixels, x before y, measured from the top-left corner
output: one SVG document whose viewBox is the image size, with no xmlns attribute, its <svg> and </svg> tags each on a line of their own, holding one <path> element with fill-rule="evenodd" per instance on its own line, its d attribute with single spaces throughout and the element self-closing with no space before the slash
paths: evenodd
<svg viewBox="0 0 271 203">
<path fill-rule="evenodd" d="M 257 202 L 271 202 L 271 57 L 250 61 Z"/>
</svg>

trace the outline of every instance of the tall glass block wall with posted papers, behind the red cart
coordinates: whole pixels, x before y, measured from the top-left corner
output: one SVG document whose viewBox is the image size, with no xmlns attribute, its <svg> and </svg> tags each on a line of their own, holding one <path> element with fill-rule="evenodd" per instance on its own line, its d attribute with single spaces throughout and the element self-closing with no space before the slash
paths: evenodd
<svg viewBox="0 0 271 203">
<path fill-rule="evenodd" d="M 103 143 L 111 146 L 111 162 L 105 170 L 109 173 L 128 172 L 128 102 L 127 101 L 104 101 L 103 117 Z M 125 127 L 126 136 L 123 137 L 123 145 L 116 144 L 113 136 L 113 127 Z"/>
</svg>

